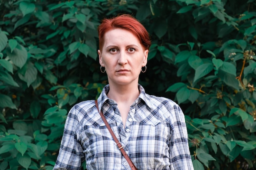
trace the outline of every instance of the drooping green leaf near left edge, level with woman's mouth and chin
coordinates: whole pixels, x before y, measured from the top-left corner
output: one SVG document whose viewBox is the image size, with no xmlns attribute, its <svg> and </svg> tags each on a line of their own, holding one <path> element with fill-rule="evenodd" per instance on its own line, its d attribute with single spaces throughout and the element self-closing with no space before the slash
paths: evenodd
<svg viewBox="0 0 256 170">
<path fill-rule="evenodd" d="M 34 65 L 31 62 L 27 63 L 27 69 L 25 72 L 25 75 L 22 75 L 21 73 L 18 73 L 18 76 L 21 80 L 24 82 L 27 82 L 27 86 L 29 87 L 30 84 L 32 84 L 36 80 L 37 76 L 37 69 L 34 67 Z"/>
</svg>

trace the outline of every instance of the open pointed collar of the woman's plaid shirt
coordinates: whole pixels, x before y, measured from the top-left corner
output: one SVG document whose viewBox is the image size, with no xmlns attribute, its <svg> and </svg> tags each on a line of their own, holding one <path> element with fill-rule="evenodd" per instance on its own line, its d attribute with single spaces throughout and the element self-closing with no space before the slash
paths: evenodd
<svg viewBox="0 0 256 170">
<path fill-rule="evenodd" d="M 139 102 L 139 99 L 141 99 L 141 100 L 143 100 L 143 101 L 145 102 L 145 104 L 146 104 L 148 107 L 152 108 L 152 104 L 151 104 L 151 102 L 150 102 L 150 98 L 149 98 L 148 95 L 145 93 L 144 88 L 143 88 L 140 84 L 138 84 L 138 88 L 139 88 L 139 91 L 140 91 L 139 97 L 138 97 L 138 99 L 137 99 L 138 102 Z M 101 92 L 99 98 L 97 99 L 97 100 L 98 100 L 98 105 L 99 105 L 99 110 L 101 110 L 103 104 L 106 104 L 106 103 L 108 103 L 108 104 L 114 104 L 114 103 L 115 103 L 114 100 L 108 98 L 108 96 L 107 96 L 108 91 L 109 91 L 109 84 L 107 84 L 106 86 L 104 86 L 104 88 L 102 89 L 102 92 Z M 116 103 L 115 103 L 115 104 L 116 104 Z"/>
</svg>

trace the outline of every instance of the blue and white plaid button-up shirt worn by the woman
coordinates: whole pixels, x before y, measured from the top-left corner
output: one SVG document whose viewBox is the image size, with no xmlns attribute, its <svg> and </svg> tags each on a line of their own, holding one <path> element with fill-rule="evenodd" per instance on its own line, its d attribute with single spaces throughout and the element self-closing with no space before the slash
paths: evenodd
<svg viewBox="0 0 256 170">
<path fill-rule="evenodd" d="M 110 127 L 139 170 L 193 170 L 184 114 L 170 99 L 145 93 L 130 106 L 126 126 L 117 103 L 106 95 L 98 98 Z M 68 114 L 54 170 L 130 170 L 106 128 L 94 100 L 76 104 Z"/>
</svg>

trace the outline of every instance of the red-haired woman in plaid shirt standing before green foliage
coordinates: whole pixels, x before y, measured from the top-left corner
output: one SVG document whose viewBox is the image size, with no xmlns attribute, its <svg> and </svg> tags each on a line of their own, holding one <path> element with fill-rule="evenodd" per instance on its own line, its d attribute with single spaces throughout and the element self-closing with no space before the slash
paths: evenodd
<svg viewBox="0 0 256 170">
<path fill-rule="evenodd" d="M 108 85 L 97 99 L 126 153 L 139 170 L 193 170 L 184 114 L 170 99 L 145 93 L 149 35 L 135 18 L 105 19 L 98 28 L 99 63 Z M 54 169 L 130 170 L 106 128 L 94 100 L 68 114 Z"/>
</svg>

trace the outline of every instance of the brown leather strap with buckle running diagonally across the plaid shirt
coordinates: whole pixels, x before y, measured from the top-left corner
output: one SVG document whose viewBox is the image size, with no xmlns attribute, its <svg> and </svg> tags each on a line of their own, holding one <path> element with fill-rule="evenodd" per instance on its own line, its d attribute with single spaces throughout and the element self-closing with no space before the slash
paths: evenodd
<svg viewBox="0 0 256 170">
<path fill-rule="evenodd" d="M 99 111 L 99 106 L 98 106 L 98 101 L 95 100 L 95 104 L 96 107 Z M 99 114 L 101 115 L 102 120 L 104 121 L 104 123 L 106 124 L 111 136 L 113 137 L 113 139 L 115 140 L 115 143 L 117 144 L 117 147 L 119 148 L 119 150 L 121 150 L 122 154 L 124 155 L 124 158 L 126 159 L 126 161 L 128 162 L 128 164 L 130 165 L 130 167 L 132 168 L 132 170 L 138 170 L 136 168 L 136 166 L 132 163 L 130 157 L 126 154 L 124 147 L 121 145 L 121 143 L 118 141 L 115 133 L 113 132 L 113 130 L 111 129 L 111 127 L 108 124 L 108 121 L 106 120 L 105 116 L 103 115 L 102 111 L 99 111 Z"/>
</svg>

